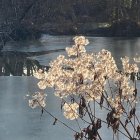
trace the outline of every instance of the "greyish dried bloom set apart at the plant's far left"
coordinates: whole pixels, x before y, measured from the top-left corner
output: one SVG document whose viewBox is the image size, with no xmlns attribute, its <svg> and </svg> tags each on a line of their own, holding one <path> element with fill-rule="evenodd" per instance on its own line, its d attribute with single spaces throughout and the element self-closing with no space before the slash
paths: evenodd
<svg viewBox="0 0 140 140">
<path fill-rule="evenodd" d="M 37 92 L 32 95 L 32 99 L 29 99 L 29 107 L 45 107 L 46 106 L 46 94 Z"/>
</svg>

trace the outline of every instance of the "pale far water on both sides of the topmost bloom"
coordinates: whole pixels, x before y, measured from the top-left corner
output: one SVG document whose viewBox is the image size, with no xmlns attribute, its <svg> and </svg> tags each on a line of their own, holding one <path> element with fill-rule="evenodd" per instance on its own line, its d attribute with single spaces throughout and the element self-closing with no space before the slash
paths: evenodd
<svg viewBox="0 0 140 140">
<path fill-rule="evenodd" d="M 99 52 L 101 49 L 111 51 L 117 64 L 121 66 L 120 58 L 124 56 L 130 57 L 131 60 L 136 56 L 140 56 L 140 38 L 120 38 L 120 37 L 87 37 L 90 44 L 86 47 L 88 52 Z M 18 52 L 40 52 L 57 49 L 65 49 L 73 44 L 72 36 L 42 36 L 39 41 L 27 41 L 18 43 L 7 43 L 4 51 Z M 42 65 L 48 65 L 51 60 L 54 60 L 59 54 L 64 52 L 55 52 L 53 54 L 35 56 Z"/>
</svg>

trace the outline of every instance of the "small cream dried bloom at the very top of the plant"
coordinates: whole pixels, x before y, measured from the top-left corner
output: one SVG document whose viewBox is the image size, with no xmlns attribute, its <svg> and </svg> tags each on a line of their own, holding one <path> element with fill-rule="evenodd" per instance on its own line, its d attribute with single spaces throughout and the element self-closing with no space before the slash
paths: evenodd
<svg viewBox="0 0 140 140">
<path fill-rule="evenodd" d="M 86 39 L 84 36 L 76 36 L 73 38 L 76 45 L 82 45 L 86 46 L 89 44 L 88 39 Z"/>
</svg>

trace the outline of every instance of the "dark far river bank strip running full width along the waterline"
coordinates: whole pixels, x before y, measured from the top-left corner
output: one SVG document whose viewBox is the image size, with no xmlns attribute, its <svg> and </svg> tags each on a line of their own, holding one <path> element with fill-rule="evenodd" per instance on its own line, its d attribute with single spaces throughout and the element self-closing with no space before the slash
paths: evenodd
<svg viewBox="0 0 140 140">
<path fill-rule="evenodd" d="M 7 41 L 39 39 L 42 34 L 48 35 L 85 35 L 93 37 L 140 37 L 140 26 L 130 20 L 117 21 L 112 25 L 99 26 L 97 23 L 45 23 L 40 27 L 21 25 L 10 33 L 1 33 L 2 48 Z"/>
</svg>

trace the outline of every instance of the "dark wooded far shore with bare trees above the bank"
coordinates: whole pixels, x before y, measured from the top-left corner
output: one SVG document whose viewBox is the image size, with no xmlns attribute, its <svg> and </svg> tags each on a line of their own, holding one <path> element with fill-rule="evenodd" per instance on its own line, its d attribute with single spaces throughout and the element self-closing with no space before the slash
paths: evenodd
<svg viewBox="0 0 140 140">
<path fill-rule="evenodd" d="M 95 23 L 140 22 L 140 0 L 0 0 L 0 35 L 77 32 Z M 83 29 L 84 30 L 84 29 Z"/>
</svg>

